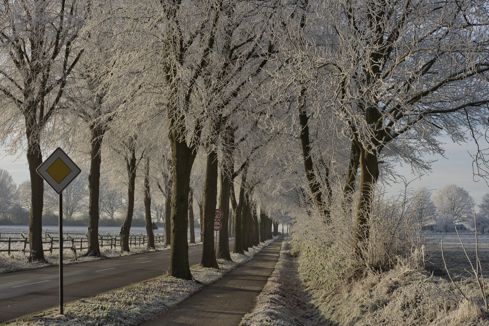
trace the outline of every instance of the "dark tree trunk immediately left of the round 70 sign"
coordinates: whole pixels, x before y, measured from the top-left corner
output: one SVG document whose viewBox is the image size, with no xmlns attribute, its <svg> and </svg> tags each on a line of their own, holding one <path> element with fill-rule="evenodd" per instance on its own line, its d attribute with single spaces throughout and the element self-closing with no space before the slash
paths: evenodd
<svg viewBox="0 0 489 326">
<path fill-rule="evenodd" d="M 214 217 L 216 216 L 217 174 L 217 152 L 210 150 L 207 153 L 204 191 L 202 194 L 202 198 L 204 200 L 204 218 L 202 228 L 202 260 L 200 263 L 202 264 L 202 267 L 219 269 L 219 265 L 217 264 L 216 260 L 216 251 L 214 249 Z"/>
</svg>

